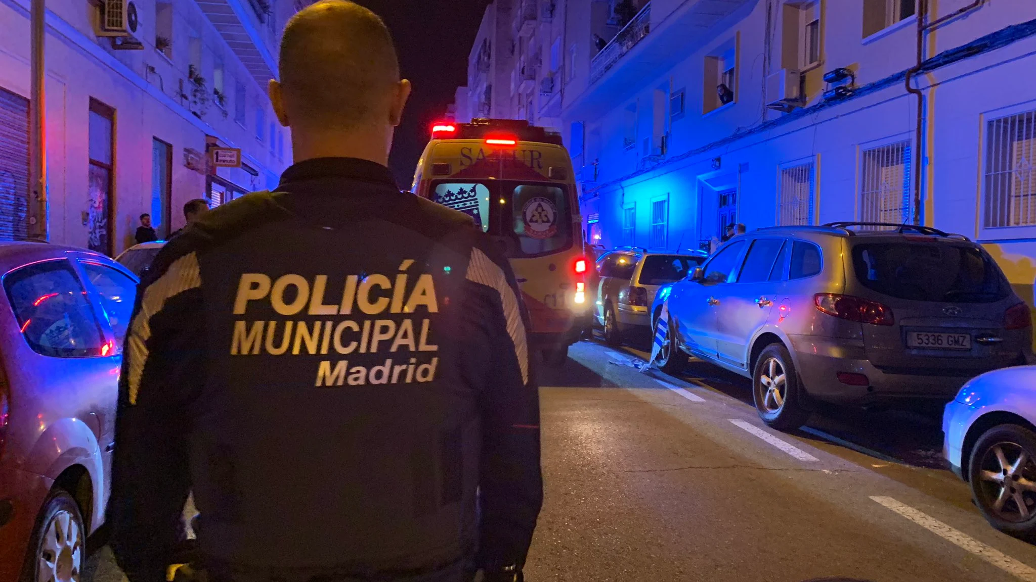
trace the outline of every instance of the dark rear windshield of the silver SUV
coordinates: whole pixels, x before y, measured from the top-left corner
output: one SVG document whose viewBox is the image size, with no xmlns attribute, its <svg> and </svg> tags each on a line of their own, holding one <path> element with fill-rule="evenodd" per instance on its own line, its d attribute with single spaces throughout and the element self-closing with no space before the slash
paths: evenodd
<svg viewBox="0 0 1036 582">
<path fill-rule="evenodd" d="M 992 258 L 972 244 L 857 244 L 853 266 L 865 287 L 900 299 L 985 303 L 1011 292 Z"/>
</svg>

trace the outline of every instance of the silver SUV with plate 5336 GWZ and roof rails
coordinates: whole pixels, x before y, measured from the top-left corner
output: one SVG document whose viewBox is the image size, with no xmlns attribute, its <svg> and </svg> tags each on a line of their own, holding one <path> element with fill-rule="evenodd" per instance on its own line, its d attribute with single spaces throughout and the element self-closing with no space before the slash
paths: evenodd
<svg viewBox="0 0 1036 582">
<path fill-rule="evenodd" d="M 759 229 L 659 292 L 656 322 L 663 302 L 663 368 L 694 354 L 751 378 L 759 416 L 779 429 L 804 424 L 812 400 L 949 401 L 968 378 L 1032 356 L 1029 307 L 992 258 L 926 227 Z"/>
</svg>

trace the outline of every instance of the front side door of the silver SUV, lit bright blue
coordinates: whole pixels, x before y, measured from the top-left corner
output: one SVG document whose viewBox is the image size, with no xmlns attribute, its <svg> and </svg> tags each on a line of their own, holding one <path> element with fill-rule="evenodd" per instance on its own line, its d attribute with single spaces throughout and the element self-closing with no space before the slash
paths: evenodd
<svg viewBox="0 0 1036 582">
<path fill-rule="evenodd" d="M 669 297 L 669 313 L 683 347 L 696 355 L 716 357 L 716 308 L 719 295 L 741 264 L 746 241 L 731 240 L 718 249 L 702 267 L 704 277 L 687 280 Z"/>
</svg>

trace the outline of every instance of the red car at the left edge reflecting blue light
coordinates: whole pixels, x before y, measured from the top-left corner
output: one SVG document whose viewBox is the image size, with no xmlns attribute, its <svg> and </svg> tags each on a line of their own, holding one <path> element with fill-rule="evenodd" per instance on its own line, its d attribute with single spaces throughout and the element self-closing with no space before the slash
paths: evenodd
<svg viewBox="0 0 1036 582">
<path fill-rule="evenodd" d="M 0 243 L 0 582 L 79 580 L 108 500 L 137 278 L 40 242 Z"/>
</svg>

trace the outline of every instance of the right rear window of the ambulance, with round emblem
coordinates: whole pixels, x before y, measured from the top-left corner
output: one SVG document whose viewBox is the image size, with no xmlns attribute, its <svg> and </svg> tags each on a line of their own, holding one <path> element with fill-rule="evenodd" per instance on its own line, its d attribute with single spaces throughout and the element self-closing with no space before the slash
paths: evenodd
<svg viewBox="0 0 1036 582">
<path fill-rule="evenodd" d="M 572 219 L 565 190 L 551 184 L 517 184 L 512 194 L 519 257 L 538 257 L 572 245 Z"/>
</svg>

